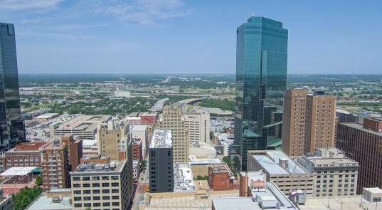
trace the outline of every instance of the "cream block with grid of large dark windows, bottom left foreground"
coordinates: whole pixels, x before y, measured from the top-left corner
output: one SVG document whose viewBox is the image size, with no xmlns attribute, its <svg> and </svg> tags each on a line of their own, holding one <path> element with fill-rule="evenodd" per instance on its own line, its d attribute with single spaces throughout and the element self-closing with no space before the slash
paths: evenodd
<svg viewBox="0 0 382 210">
<path fill-rule="evenodd" d="M 80 164 L 70 172 L 74 209 L 127 210 L 133 197 L 129 160 L 109 164 Z"/>
</svg>

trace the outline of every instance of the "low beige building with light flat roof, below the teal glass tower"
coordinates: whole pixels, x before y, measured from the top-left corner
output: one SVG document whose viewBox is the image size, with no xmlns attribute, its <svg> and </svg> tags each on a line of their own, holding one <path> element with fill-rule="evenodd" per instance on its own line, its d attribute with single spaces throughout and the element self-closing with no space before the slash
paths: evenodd
<svg viewBox="0 0 382 210">
<path fill-rule="evenodd" d="M 312 196 L 313 175 L 281 150 L 253 150 L 247 155 L 248 172 L 262 170 L 267 175 L 267 182 L 274 182 L 284 194 L 300 189 Z"/>
</svg>

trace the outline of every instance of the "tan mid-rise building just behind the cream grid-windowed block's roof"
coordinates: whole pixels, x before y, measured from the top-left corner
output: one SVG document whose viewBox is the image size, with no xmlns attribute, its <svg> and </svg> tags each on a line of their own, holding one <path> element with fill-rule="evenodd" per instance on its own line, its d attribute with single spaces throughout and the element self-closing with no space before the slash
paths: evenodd
<svg viewBox="0 0 382 210">
<path fill-rule="evenodd" d="M 122 121 L 109 120 L 97 125 L 98 154 L 110 156 L 111 160 L 126 159 L 129 125 Z"/>
</svg>

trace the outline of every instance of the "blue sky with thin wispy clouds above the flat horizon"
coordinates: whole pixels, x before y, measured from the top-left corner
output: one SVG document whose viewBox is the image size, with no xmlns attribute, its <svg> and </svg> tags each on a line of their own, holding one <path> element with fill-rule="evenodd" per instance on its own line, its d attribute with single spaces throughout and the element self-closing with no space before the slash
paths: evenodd
<svg viewBox="0 0 382 210">
<path fill-rule="evenodd" d="M 381 0 L 0 0 L 19 73 L 235 73 L 251 14 L 289 30 L 288 73 L 382 73 Z"/>
</svg>

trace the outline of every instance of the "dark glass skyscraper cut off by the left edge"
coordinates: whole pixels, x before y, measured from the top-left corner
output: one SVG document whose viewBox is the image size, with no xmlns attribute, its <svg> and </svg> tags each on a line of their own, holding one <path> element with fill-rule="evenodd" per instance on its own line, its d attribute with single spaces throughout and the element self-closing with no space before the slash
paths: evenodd
<svg viewBox="0 0 382 210">
<path fill-rule="evenodd" d="M 14 25 L 0 23 L 0 153 L 21 140 L 25 140 L 25 129 L 18 93 Z"/>
</svg>

